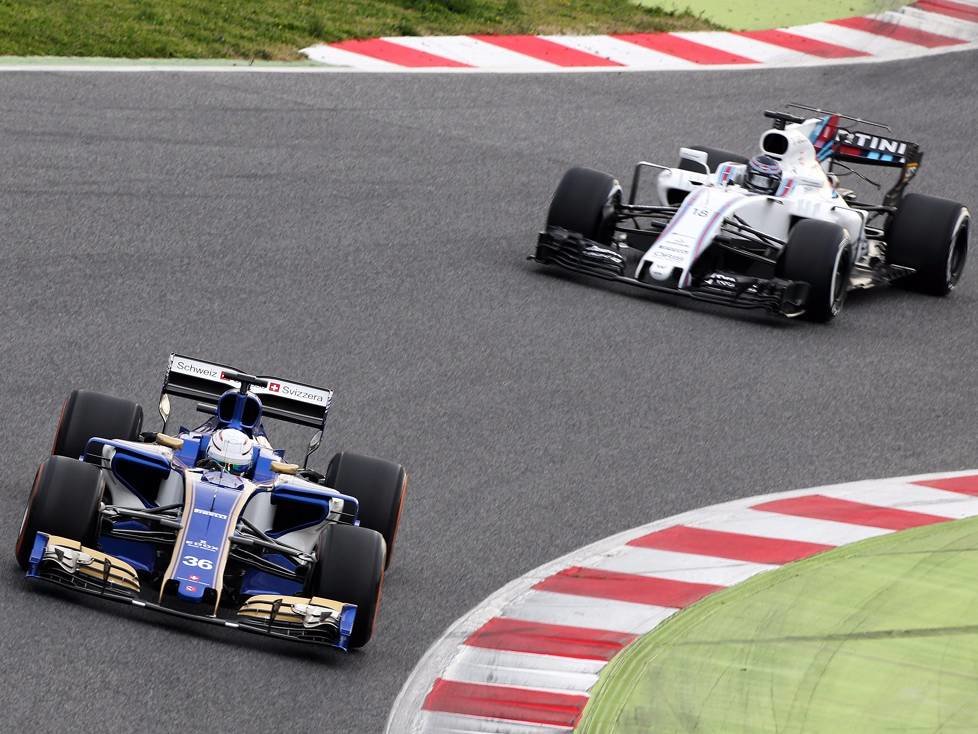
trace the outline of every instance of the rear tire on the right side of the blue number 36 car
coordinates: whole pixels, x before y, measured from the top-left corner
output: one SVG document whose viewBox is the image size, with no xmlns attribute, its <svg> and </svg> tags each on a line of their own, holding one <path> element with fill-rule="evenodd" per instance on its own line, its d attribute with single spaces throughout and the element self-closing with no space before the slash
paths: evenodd
<svg viewBox="0 0 978 734">
<path fill-rule="evenodd" d="M 360 527 L 376 530 L 384 537 L 390 566 L 394 541 L 401 522 L 407 473 L 400 464 L 341 451 L 326 469 L 326 486 L 356 497 L 360 505 Z"/>
</svg>

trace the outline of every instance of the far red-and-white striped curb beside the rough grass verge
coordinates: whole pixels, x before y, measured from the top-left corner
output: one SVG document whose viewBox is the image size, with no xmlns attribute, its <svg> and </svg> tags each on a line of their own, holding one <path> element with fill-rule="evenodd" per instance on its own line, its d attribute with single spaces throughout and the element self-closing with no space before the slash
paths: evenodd
<svg viewBox="0 0 978 734">
<path fill-rule="evenodd" d="M 650 71 L 889 61 L 976 43 L 978 0 L 918 0 L 876 15 L 764 31 L 404 36 L 318 44 L 302 53 L 348 71 Z"/>
</svg>

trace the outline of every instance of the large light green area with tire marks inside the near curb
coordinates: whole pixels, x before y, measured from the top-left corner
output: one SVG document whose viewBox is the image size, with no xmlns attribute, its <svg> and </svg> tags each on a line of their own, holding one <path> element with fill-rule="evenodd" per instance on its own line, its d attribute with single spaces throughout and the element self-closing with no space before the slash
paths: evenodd
<svg viewBox="0 0 978 734">
<path fill-rule="evenodd" d="M 712 595 L 602 672 L 579 734 L 978 731 L 978 519 Z"/>
</svg>

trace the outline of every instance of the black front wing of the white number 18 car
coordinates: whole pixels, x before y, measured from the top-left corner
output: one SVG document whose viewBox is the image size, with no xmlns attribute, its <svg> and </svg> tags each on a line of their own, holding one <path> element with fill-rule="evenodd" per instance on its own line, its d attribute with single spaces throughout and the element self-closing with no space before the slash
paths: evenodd
<svg viewBox="0 0 978 734">
<path fill-rule="evenodd" d="M 690 288 L 638 280 L 625 274 L 627 263 L 623 255 L 559 227 L 549 227 L 540 233 L 536 253 L 529 259 L 658 293 L 733 308 L 764 309 L 788 317 L 802 314 L 808 297 L 807 283 L 728 272 L 710 273 Z"/>
</svg>

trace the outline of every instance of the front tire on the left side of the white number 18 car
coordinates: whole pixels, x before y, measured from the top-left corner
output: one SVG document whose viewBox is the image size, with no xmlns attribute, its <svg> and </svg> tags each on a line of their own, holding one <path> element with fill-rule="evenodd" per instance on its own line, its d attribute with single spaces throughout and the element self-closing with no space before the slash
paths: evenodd
<svg viewBox="0 0 978 734">
<path fill-rule="evenodd" d="M 560 179 L 547 212 L 547 227 L 577 232 L 599 245 L 611 244 L 621 186 L 614 176 L 572 168 Z"/>
</svg>

